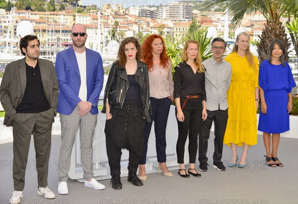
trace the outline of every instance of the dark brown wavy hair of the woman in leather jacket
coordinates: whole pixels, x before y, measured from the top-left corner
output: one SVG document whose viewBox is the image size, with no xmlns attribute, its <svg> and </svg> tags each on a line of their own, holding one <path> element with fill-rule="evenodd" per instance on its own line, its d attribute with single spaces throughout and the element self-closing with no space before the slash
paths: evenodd
<svg viewBox="0 0 298 204">
<path fill-rule="evenodd" d="M 142 47 L 141 47 L 139 41 L 134 37 L 125 38 L 122 41 L 122 43 L 120 44 L 118 55 L 117 55 L 119 65 L 121 67 L 124 67 L 126 64 L 127 59 L 126 59 L 126 55 L 124 53 L 124 46 L 129 43 L 133 43 L 137 48 L 136 60 L 140 60 L 142 57 Z"/>
</svg>

